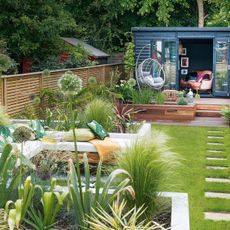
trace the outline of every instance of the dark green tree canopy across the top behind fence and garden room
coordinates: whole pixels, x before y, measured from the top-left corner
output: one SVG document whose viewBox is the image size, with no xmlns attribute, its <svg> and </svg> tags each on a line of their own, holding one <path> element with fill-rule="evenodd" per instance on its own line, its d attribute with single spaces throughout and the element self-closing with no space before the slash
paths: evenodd
<svg viewBox="0 0 230 230">
<path fill-rule="evenodd" d="M 198 15 L 205 26 L 230 25 L 229 0 L 0 0 L 0 6 L 0 39 L 17 62 L 57 54 L 60 36 L 118 52 L 134 26 L 197 26 Z"/>
</svg>

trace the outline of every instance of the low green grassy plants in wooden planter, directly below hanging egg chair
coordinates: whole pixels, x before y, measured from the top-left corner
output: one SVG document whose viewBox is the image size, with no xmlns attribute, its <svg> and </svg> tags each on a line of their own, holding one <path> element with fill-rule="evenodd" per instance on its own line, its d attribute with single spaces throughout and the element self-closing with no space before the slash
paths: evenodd
<svg viewBox="0 0 230 230">
<path fill-rule="evenodd" d="M 144 88 L 141 91 L 133 91 L 133 104 L 151 104 L 153 102 L 155 91 L 149 88 Z"/>
</svg>

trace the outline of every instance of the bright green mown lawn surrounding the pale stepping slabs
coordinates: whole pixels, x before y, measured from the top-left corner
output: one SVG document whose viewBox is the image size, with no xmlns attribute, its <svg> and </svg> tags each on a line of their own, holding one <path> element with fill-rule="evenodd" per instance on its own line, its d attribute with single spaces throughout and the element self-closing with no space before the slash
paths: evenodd
<svg viewBox="0 0 230 230">
<path fill-rule="evenodd" d="M 187 192 L 189 195 L 191 230 L 227 230 L 230 221 L 204 220 L 205 211 L 230 212 L 230 200 L 219 198 L 204 198 L 204 192 L 230 193 L 229 183 L 205 182 L 205 177 L 219 177 L 230 179 L 230 129 L 204 128 L 184 126 L 159 126 L 154 129 L 166 132 L 170 137 L 169 146 L 178 153 L 182 165 L 175 175 L 176 186 L 170 188 L 174 192 Z M 223 134 L 208 133 L 208 130 L 222 130 Z M 210 135 L 223 135 L 223 146 L 209 146 L 207 142 L 220 142 L 220 139 L 209 139 Z M 208 149 L 223 150 L 221 153 L 211 152 Z M 227 160 L 221 164 L 219 161 L 206 160 L 207 156 L 223 156 Z M 226 170 L 206 169 L 207 165 L 227 166 Z"/>
</svg>

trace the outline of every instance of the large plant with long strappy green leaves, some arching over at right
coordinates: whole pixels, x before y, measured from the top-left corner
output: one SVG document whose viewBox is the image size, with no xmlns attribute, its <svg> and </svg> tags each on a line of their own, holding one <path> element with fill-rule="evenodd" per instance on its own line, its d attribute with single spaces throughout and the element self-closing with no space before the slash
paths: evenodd
<svg viewBox="0 0 230 230">
<path fill-rule="evenodd" d="M 90 188 L 90 170 L 86 154 L 83 157 L 84 170 L 85 170 L 85 186 L 84 188 L 80 186 L 76 170 L 72 161 L 70 161 L 70 173 L 69 173 L 69 192 L 70 198 L 73 203 L 73 207 L 76 213 L 77 225 L 82 228 L 87 228 L 88 223 L 87 218 L 91 216 L 92 209 L 97 210 L 98 207 L 104 209 L 108 208 L 108 205 L 117 197 L 122 191 L 129 191 L 132 196 L 134 192 L 131 186 L 129 186 L 130 179 L 129 174 L 122 169 L 114 170 L 106 179 L 105 182 L 101 182 L 101 171 L 102 163 L 99 162 L 96 173 L 95 189 Z M 126 175 L 127 178 L 116 184 L 114 190 L 112 188 L 112 183 L 119 175 Z M 83 196 L 81 196 L 83 194 Z"/>
</svg>

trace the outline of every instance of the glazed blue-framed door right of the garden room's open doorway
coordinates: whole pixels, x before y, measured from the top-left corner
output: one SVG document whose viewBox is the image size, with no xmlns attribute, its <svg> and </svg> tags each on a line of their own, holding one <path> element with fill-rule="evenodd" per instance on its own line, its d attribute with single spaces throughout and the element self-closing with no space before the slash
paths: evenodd
<svg viewBox="0 0 230 230">
<path fill-rule="evenodd" d="M 229 42 L 217 39 L 214 46 L 214 95 L 229 96 Z"/>
</svg>

